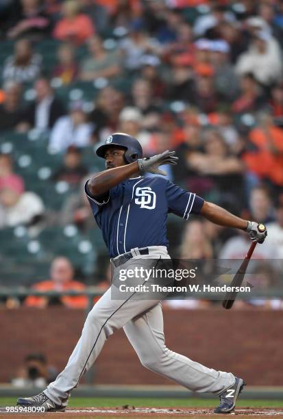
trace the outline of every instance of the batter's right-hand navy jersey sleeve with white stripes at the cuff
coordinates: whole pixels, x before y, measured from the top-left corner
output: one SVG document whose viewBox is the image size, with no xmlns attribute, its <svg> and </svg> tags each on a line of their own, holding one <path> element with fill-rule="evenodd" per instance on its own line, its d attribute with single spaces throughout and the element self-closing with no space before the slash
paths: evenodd
<svg viewBox="0 0 283 419">
<path fill-rule="evenodd" d="M 204 199 L 193 192 L 188 192 L 174 183 L 167 183 L 167 200 L 169 212 L 188 220 L 190 214 L 199 214 Z"/>
</svg>

